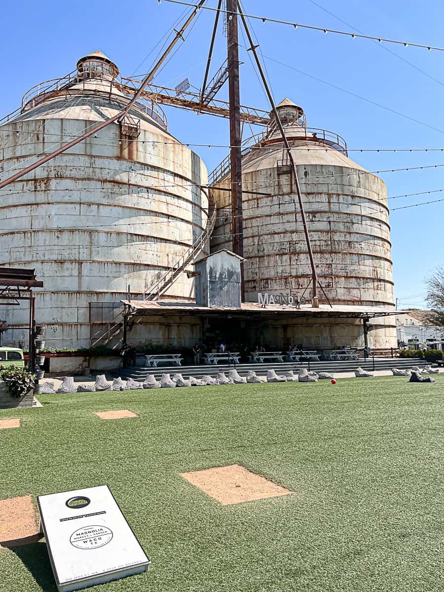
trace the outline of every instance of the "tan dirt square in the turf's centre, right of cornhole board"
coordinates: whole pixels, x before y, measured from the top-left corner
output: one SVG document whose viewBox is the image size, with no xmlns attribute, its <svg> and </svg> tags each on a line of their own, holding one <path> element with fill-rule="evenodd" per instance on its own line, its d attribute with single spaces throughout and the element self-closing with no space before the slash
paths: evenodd
<svg viewBox="0 0 444 592">
<path fill-rule="evenodd" d="M 204 471 L 182 473 L 190 483 L 220 501 L 223 506 L 292 493 L 240 465 L 216 466 Z"/>
</svg>

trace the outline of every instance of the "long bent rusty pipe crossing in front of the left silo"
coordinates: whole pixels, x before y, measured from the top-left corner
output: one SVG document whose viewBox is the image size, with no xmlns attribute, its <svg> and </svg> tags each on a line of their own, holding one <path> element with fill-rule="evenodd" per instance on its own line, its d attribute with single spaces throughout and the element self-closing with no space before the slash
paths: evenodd
<svg viewBox="0 0 444 592">
<path fill-rule="evenodd" d="M 157 72 L 157 70 L 159 69 L 160 65 L 162 65 L 162 63 L 165 61 L 166 56 L 168 56 L 169 52 L 173 49 L 173 47 L 178 42 L 178 40 L 179 39 L 183 40 L 182 34 L 184 33 L 185 29 L 188 27 L 190 22 L 193 20 L 193 18 L 197 14 L 197 12 L 200 9 L 200 7 L 202 6 L 202 4 L 204 4 L 204 2 L 206 2 L 206 1 L 207 0 L 201 0 L 199 2 L 199 4 L 197 5 L 197 7 L 194 9 L 194 11 L 192 11 L 191 15 L 189 15 L 189 17 L 185 21 L 184 25 L 182 25 L 182 28 L 179 31 L 175 30 L 175 33 L 176 33 L 175 38 L 171 41 L 169 46 L 166 48 L 165 52 L 163 52 L 162 56 L 159 58 L 159 60 L 157 61 L 156 65 L 153 67 L 153 69 L 145 76 L 143 82 L 141 83 L 141 85 L 139 87 L 139 90 L 136 92 L 136 94 L 133 96 L 131 101 L 128 103 L 128 105 L 123 110 L 119 111 L 117 113 L 117 115 L 113 115 L 113 117 L 110 117 L 109 119 L 107 119 L 105 121 L 102 121 L 97 126 L 92 127 L 89 131 L 86 131 L 86 133 L 82 134 L 82 136 L 79 136 L 75 140 L 72 140 L 69 143 L 65 144 L 65 146 L 62 146 L 62 147 L 58 148 L 57 150 L 54 150 L 54 152 L 51 152 L 49 155 L 44 156 L 40 160 L 37 160 L 37 162 L 34 162 L 32 165 L 27 166 L 26 168 L 20 170 L 18 173 L 15 173 L 15 175 L 12 175 L 11 177 L 9 177 L 8 179 L 5 179 L 4 181 L 1 181 L 0 182 L 0 189 L 2 187 L 9 185 L 9 183 L 17 181 L 17 179 L 20 179 L 20 177 L 26 175 L 27 173 L 30 173 L 31 170 L 37 169 L 38 166 L 44 165 L 44 163 L 48 162 L 49 160 L 52 160 L 55 156 L 58 156 L 59 154 L 66 152 L 66 150 L 69 150 L 70 148 L 72 148 L 72 146 L 75 146 L 76 144 L 78 144 L 82 140 L 85 140 L 89 136 L 92 136 L 92 134 L 95 134 L 97 131 L 102 130 L 104 127 L 109 126 L 110 123 L 114 123 L 114 121 L 117 121 L 117 120 L 122 121 L 123 118 L 125 117 L 125 115 L 127 114 L 127 112 L 131 109 L 131 107 L 133 107 L 133 105 L 137 101 L 137 99 L 139 99 L 139 97 L 143 93 L 143 90 L 146 87 L 146 85 L 150 81 L 152 81 L 152 79 L 153 79 L 155 73 Z"/>
</svg>

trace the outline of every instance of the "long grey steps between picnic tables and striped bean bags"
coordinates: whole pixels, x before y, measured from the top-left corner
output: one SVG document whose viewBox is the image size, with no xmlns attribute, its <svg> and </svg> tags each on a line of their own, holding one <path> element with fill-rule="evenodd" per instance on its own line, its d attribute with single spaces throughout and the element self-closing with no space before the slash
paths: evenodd
<svg viewBox="0 0 444 592">
<path fill-rule="evenodd" d="M 390 370 L 391 368 L 407 369 L 412 366 L 419 366 L 423 368 L 427 362 L 420 358 L 375 358 L 373 364 L 372 359 L 364 361 L 327 361 L 327 362 L 310 362 L 310 370 L 314 372 L 354 372 L 358 366 L 372 372 L 373 370 Z M 134 380 L 143 381 L 147 375 L 153 374 L 156 379 L 160 379 L 162 374 L 175 374 L 179 372 L 184 378 L 194 376 L 199 378 L 205 374 L 212 377 L 217 376 L 218 372 L 228 372 L 233 370 L 234 365 L 207 365 L 201 364 L 198 366 L 158 366 L 157 368 L 149 368 L 147 366 L 133 366 L 121 371 L 121 377 L 133 378 Z M 266 375 L 268 370 L 275 369 L 277 374 L 279 372 L 287 372 L 289 370 L 298 371 L 300 368 L 308 368 L 308 363 L 263 363 L 263 364 L 236 364 L 236 370 L 241 376 L 245 376 L 250 370 L 256 372 L 259 376 Z"/>
</svg>

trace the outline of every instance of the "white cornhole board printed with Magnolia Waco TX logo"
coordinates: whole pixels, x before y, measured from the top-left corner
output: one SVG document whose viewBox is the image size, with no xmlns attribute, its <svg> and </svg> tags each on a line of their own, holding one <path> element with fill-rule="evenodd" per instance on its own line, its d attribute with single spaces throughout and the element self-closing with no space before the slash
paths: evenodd
<svg viewBox="0 0 444 592">
<path fill-rule="evenodd" d="M 59 592 L 148 571 L 140 546 L 108 485 L 37 497 Z"/>
</svg>

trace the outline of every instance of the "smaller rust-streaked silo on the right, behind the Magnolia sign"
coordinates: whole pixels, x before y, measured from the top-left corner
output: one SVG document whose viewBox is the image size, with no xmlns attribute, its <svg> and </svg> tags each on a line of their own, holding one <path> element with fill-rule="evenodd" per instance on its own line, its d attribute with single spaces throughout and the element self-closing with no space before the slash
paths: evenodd
<svg viewBox="0 0 444 592">
<path fill-rule="evenodd" d="M 277 111 L 298 168 L 314 260 L 328 299 L 336 305 L 392 308 L 384 182 L 349 159 L 340 136 L 307 128 L 301 107 L 285 99 Z M 211 241 L 215 251 L 231 246 L 231 197 L 217 190 L 229 187 L 229 160 L 215 169 L 210 182 L 218 208 Z M 245 300 L 257 302 L 258 293 L 265 292 L 302 294 L 311 267 L 291 166 L 273 114 L 265 134 L 244 149 L 242 182 Z M 327 303 L 321 291 L 318 295 Z M 369 334 L 374 348 L 397 345 L 394 324 L 387 319 L 378 320 Z M 301 319 L 270 327 L 273 343 L 300 339 L 312 346 L 362 345 L 361 321 Z"/>
</svg>

